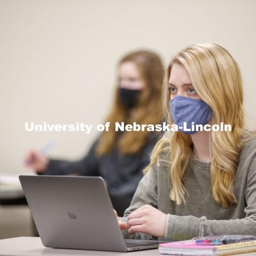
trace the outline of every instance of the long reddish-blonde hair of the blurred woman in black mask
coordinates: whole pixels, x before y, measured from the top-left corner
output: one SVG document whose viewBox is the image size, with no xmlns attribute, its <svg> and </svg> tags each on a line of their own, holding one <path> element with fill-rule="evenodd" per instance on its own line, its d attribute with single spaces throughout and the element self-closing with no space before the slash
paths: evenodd
<svg viewBox="0 0 256 256">
<path fill-rule="evenodd" d="M 125 132 L 117 138 L 115 122 L 125 124 L 158 124 L 163 119 L 163 102 L 161 98 L 163 84 L 163 64 L 157 54 L 150 51 L 135 51 L 125 55 L 118 63 L 133 62 L 146 83 L 146 89 L 141 92 L 138 104 L 134 107 L 133 114 L 129 116 L 127 109 L 119 98 L 118 85 L 116 86 L 114 105 L 105 119 L 110 122 L 110 129 L 102 132 L 97 154 L 109 153 L 117 147 L 122 154 L 139 154 L 146 144 L 149 133 L 147 131 Z"/>
</svg>

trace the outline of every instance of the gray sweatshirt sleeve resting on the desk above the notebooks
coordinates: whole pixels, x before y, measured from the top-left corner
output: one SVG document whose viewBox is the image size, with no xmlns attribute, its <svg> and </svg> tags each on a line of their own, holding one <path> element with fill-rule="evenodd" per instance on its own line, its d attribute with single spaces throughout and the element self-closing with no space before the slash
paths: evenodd
<svg viewBox="0 0 256 256">
<path fill-rule="evenodd" d="M 207 220 L 206 217 L 167 214 L 165 239 L 190 239 L 212 235 L 256 235 L 256 157 L 250 164 L 245 188 L 245 218 Z"/>
</svg>

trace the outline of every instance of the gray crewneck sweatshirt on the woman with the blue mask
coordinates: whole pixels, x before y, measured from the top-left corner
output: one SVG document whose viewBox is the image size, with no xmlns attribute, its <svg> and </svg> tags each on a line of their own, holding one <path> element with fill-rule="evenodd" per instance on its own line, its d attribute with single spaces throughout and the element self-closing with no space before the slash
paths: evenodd
<svg viewBox="0 0 256 256">
<path fill-rule="evenodd" d="M 142 205 L 152 205 L 167 214 L 165 236 L 161 240 L 184 240 L 196 236 L 246 234 L 256 235 L 256 139 L 244 143 L 239 155 L 234 190 L 237 204 L 224 209 L 217 204 L 211 190 L 211 163 L 204 163 L 193 156 L 185 173 L 184 186 L 188 192 L 186 204 L 171 201 L 167 172 L 170 153 L 161 153 L 159 164 L 154 164 L 143 176 L 124 217 Z M 125 238 L 155 239 L 144 233 Z"/>
</svg>

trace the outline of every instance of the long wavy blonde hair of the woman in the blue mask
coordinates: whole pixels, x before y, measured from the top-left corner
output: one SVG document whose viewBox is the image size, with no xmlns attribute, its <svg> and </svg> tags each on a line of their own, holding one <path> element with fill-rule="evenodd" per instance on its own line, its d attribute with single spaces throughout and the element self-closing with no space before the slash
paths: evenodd
<svg viewBox="0 0 256 256">
<path fill-rule="evenodd" d="M 192 45 L 175 55 L 166 69 L 163 86 L 165 116 L 170 124 L 173 124 L 173 120 L 168 83 L 174 63 L 180 63 L 187 69 L 197 94 L 211 107 L 213 114 L 209 124 L 223 122 L 232 126 L 231 132 L 212 131 L 209 134 L 212 194 L 218 204 L 227 208 L 237 203 L 233 183 L 238 156 L 243 142 L 252 135 L 244 129 L 243 87 L 239 67 L 229 52 L 217 44 Z M 188 134 L 170 132 L 169 135 L 169 138 L 158 141 L 145 172 L 158 161 L 163 150 L 170 150 L 170 198 L 177 204 L 186 203 L 183 178 L 191 161 L 193 143 Z"/>
</svg>

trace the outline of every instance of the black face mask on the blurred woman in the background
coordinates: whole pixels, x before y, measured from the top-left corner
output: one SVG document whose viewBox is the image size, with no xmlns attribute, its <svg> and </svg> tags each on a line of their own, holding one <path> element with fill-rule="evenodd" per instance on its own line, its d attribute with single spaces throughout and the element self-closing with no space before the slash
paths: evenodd
<svg viewBox="0 0 256 256">
<path fill-rule="evenodd" d="M 140 93 L 140 90 L 119 88 L 119 98 L 123 106 L 127 109 L 133 108 L 136 105 Z"/>
</svg>

